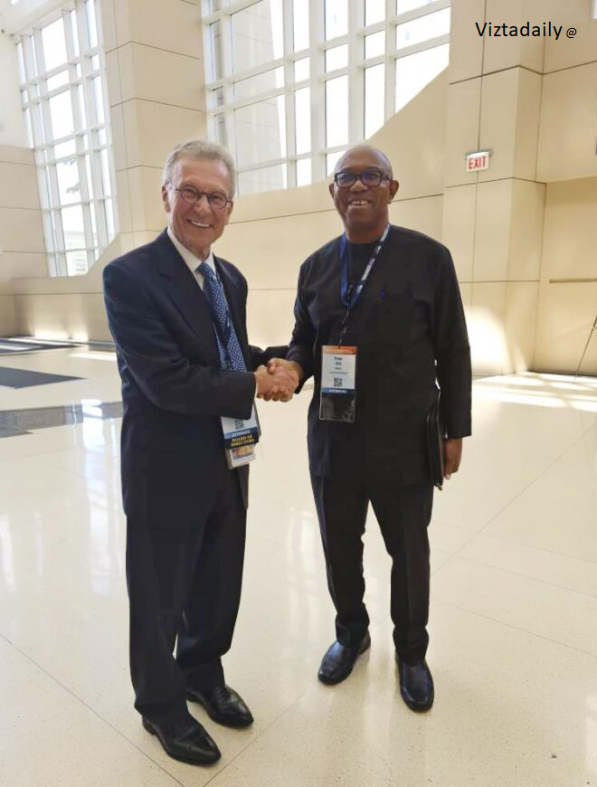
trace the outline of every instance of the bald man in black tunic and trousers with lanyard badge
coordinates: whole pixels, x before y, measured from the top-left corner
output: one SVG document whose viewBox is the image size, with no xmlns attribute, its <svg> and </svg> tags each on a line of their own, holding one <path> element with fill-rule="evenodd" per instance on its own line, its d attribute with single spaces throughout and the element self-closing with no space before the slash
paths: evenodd
<svg viewBox="0 0 597 787">
<path fill-rule="evenodd" d="M 389 224 L 397 190 L 380 150 L 354 147 L 339 159 L 329 191 L 345 234 L 302 265 L 289 353 L 270 361 L 270 370 L 293 368 L 301 382 L 315 377 L 309 468 L 337 638 L 318 678 L 344 680 L 370 645 L 361 538 L 371 502 L 393 559 L 401 693 L 412 710 L 424 711 L 433 702 L 425 660 L 433 498 L 427 422 L 441 393 L 445 439 L 441 444 L 436 431 L 436 447 L 449 479 L 470 434 L 471 374 L 450 252 Z M 338 345 L 355 351 L 343 355 Z M 355 355 L 355 384 L 346 355 Z"/>
</svg>

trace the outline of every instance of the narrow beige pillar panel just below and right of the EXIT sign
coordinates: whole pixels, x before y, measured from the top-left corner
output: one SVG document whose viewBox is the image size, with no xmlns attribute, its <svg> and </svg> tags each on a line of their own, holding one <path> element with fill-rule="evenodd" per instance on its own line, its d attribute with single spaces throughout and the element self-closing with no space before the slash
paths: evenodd
<svg viewBox="0 0 597 787">
<path fill-rule="evenodd" d="M 507 265 L 507 279 L 510 281 L 538 281 L 540 278 L 544 210 L 545 184 L 512 181 Z"/>
</svg>

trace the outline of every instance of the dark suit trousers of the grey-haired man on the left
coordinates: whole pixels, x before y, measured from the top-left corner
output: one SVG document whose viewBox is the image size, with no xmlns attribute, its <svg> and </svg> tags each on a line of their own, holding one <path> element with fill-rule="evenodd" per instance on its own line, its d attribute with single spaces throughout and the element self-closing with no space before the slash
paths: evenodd
<svg viewBox="0 0 597 787">
<path fill-rule="evenodd" d="M 224 458 L 213 508 L 198 514 L 193 528 L 147 528 L 128 519 L 130 672 L 142 716 L 185 718 L 186 687 L 223 684 L 221 659 L 241 600 L 245 527 L 241 488 Z"/>
</svg>

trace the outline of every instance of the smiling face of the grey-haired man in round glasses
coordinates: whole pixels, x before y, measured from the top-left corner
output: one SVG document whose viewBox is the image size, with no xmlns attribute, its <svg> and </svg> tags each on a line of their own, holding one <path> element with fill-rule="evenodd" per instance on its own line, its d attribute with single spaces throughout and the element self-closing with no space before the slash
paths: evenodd
<svg viewBox="0 0 597 787">
<path fill-rule="evenodd" d="M 230 175 L 223 161 L 180 158 L 172 169 L 171 181 L 176 188 L 192 186 L 196 191 L 219 191 L 231 196 Z M 195 257 L 205 260 L 212 243 L 223 233 L 232 213 L 232 203 L 213 208 L 203 195 L 195 204 L 185 203 L 180 192 L 171 185 L 162 185 L 162 201 L 168 226 L 175 238 Z"/>
</svg>

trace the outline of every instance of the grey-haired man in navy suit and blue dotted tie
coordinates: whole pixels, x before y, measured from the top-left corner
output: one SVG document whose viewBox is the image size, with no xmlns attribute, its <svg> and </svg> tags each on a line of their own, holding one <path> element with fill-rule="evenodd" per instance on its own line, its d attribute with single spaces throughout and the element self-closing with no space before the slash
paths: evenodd
<svg viewBox="0 0 597 787">
<path fill-rule="evenodd" d="M 263 365 L 285 347 L 249 346 L 247 282 L 211 251 L 234 186 L 222 147 L 203 140 L 175 147 L 162 185 L 167 230 L 104 270 L 124 404 L 135 706 L 167 754 L 194 764 L 213 763 L 220 752 L 187 699 L 220 724 L 252 722 L 226 686 L 221 660 L 240 602 L 248 493 L 247 465 L 231 469 L 229 461 L 251 447 L 227 457 L 222 418 L 250 430 L 256 395 L 287 400 L 298 384 L 288 370 L 271 375 Z"/>
</svg>

